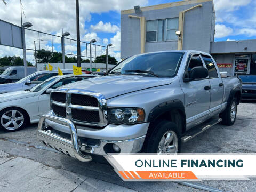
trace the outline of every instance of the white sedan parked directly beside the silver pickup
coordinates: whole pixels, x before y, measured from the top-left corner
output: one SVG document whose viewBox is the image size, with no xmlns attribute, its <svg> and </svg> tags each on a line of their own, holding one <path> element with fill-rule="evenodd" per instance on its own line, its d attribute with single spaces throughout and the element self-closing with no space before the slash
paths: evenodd
<svg viewBox="0 0 256 192">
<path fill-rule="evenodd" d="M 50 92 L 59 86 L 92 78 L 95 75 L 54 76 L 30 90 L 0 94 L 0 128 L 16 131 L 27 123 L 36 123 L 50 110 Z"/>
</svg>

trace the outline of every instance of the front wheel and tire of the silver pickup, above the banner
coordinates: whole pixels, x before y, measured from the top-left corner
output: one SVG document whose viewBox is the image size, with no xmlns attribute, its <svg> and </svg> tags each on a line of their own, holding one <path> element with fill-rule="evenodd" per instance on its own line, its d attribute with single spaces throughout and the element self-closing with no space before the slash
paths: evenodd
<svg viewBox="0 0 256 192">
<path fill-rule="evenodd" d="M 177 154 L 181 150 L 181 133 L 175 123 L 161 120 L 153 123 L 151 134 L 146 137 L 145 153 Z M 172 138 L 168 140 L 167 137 Z M 165 143 L 166 141 L 167 144 Z M 169 142 L 171 141 L 171 142 Z M 165 143 L 165 145 L 163 145 Z M 161 147 L 162 146 L 162 147 Z"/>
</svg>

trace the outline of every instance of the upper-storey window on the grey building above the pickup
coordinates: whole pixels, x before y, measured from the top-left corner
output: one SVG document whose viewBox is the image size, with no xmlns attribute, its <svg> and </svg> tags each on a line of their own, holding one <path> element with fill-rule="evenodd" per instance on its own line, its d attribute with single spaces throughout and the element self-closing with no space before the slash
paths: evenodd
<svg viewBox="0 0 256 192">
<path fill-rule="evenodd" d="M 175 31 L 179 29 L 179 18 L 147 21 L 146 25 L 146 42 L 162 42 L 178 39 Z"/>
</svg>

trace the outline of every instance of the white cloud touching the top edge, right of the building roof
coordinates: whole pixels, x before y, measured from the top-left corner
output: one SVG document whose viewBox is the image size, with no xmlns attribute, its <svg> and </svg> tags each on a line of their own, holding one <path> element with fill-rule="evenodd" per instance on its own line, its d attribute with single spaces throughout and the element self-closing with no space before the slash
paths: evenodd
<svg viewBox="0 0 256 192">
<path fill-rule="evenodd" d="M 241 6 L 246 6 L 251 0 L 214 0 L 214 7 L 216 11 L 234 11 Z"/>
</svg>

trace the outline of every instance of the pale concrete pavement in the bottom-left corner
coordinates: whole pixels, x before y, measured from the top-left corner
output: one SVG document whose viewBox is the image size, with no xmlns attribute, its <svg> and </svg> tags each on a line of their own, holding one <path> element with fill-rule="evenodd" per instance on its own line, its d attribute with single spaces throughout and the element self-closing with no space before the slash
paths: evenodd
<svg viewBox="0 0 256 192">
<path fill-rule="evenodd" d="M 0 150 L 0 191 L 133 191 Z"/>
</svg>

